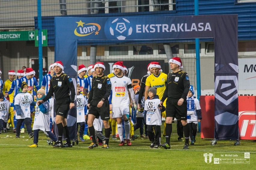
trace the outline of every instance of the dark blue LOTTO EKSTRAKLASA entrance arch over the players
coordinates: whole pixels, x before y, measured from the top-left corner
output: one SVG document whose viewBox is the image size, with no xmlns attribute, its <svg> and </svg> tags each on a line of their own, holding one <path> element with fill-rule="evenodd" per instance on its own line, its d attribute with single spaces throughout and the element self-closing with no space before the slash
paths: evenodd
<svg viewBox="0 0 256 170">
<path fill-rule="evenodd" d="M 215 138 L 238 139 L 238 15 L 55 17 L 55 60 L 77 75 L 77 43 L 215 40 Z M 226 119 L 226 118 L 229 119 Z"/>
</svg>

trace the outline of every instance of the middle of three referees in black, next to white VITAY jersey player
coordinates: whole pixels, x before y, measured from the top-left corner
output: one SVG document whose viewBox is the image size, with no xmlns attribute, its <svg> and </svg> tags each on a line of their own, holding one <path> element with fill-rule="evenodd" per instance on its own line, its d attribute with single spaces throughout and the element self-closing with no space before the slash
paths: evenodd
<svg viewBox="0 0 256 170">
<path fill-rule="evenodd" d="M 110 126 L 108 124 L 109 117 L 109 101 L 108 97 L 111 93 L 111 82 L 110 79 L 103 74 L 105 70 L 104 63 L 98 62 L 95 63 L 94 69 L 97 72 L 97 76 L 93 77 L 92 80 L 92 89 L 90 90 L 90 95 L 88 99 L 88 128 L 90 132 L 90 137 L 93 142 L 88 146 L 89 149 L 98 147 L 98 144 L 95 139 L 95 129 L 93 127 L 94 119 L 102 119 L 105 127 L 105 144 L 102 148 L 108 149 L 108 142 L 110 136 Z"/>
</svg>

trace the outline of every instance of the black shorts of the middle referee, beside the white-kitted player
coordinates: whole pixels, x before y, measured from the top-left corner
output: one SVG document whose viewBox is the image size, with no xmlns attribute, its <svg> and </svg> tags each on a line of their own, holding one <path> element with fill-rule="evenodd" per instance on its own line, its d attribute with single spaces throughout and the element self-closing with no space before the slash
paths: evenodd
<svg viewBox="0 0 256 170">
<path fill-rule="evenodd" d="M 101 99 L 91 101 L 88 114 L 94 115 L 96 119 L 99 119 L 100 116 L 100 119 L 108 121 L 110 119 L 109 101 L 105 100 L 101 107 L 97 107 L 99 101 Z"/>
</svg>

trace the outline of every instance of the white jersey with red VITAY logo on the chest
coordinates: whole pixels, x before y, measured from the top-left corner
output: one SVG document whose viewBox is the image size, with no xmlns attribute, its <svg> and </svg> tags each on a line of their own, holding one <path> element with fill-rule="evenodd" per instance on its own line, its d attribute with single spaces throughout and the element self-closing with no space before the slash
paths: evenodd
<svg viewBox="0 0 256 170">
<path fill-rule="evenodd" d="M 128 85 L 132 85 L 131 79 L 126 76 L 114 76 L 110 78 L 110 81 L 112 85 L 112 107 L 129 106 Z"/>
</svg>

